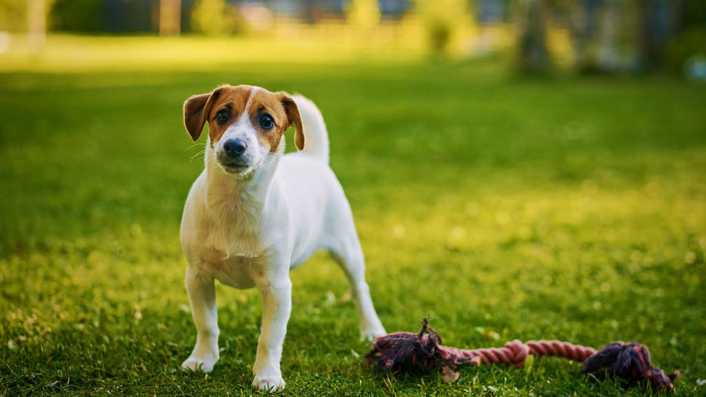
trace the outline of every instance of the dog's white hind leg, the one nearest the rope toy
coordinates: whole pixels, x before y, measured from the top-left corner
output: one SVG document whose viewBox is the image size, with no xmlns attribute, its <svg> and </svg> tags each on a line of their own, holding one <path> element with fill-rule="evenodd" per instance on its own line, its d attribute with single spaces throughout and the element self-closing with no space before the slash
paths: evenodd
<svg viewBox="0 0 706 397">
<path fill-rule="evenodd" d="M 338 240 L 328 250 L 336 263 L 343 269 L 351 284 L 351 295 L 356 304 L 360 319 L 361 338 L 373 340 L 385 335 L 385 328 L 378 318 L 365 281 L 365 260 L 358 236 Z"/>
</svg>

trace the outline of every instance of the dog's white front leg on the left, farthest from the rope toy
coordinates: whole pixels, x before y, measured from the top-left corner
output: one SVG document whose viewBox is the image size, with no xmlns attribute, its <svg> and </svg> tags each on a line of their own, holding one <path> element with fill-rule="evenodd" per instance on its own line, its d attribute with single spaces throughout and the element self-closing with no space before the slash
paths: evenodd
<svg viewBox="0 0 706 397">
<path fill-rule="evenodd" d="M 213 277 L 193 266 L 186 268 L 186 292 L 189 292 L 191 314 L 196 324 L 196 345 L 181 367 L 211 372 L 218 361 L 218 312 Z"/>
</svg>

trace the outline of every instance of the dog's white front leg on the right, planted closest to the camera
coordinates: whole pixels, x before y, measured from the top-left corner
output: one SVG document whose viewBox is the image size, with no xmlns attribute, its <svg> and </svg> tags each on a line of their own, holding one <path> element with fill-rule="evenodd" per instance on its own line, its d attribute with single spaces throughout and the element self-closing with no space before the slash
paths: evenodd
<svg viewBox="0 0 706 397">
<path fill-rule="evenodd" d="M 280 269 L 280 274 L 265 274 L 257 281 L 263 295 L 263 324 L 253 366 L 253 387 L 259 390 L 276 391 L 285 387 L 280 360 L 287 321 L 292 312 L 292 281 L 289 280 L 289 266 Z"/>
</svg>

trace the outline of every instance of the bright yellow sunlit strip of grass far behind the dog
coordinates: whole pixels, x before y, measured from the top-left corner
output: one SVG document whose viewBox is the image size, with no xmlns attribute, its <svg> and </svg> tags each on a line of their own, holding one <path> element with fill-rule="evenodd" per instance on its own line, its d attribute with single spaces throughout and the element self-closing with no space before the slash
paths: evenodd
<svg viewBox="0 0 706 397">
<path fill-rule="evenodd" d="M 337 64 L 345 61 L 418 60 L 425 42 L 402 40 L 390 27 L 378 38 L 345 26 L 298 28 L 247 37 L 83 37 L 49 35 L 40 52 L 30 52 L 26 38 L 14 36 L 0 71 L 96 71 L 186 69 L 208 71 L 232 64 Z"/>
</svg>

